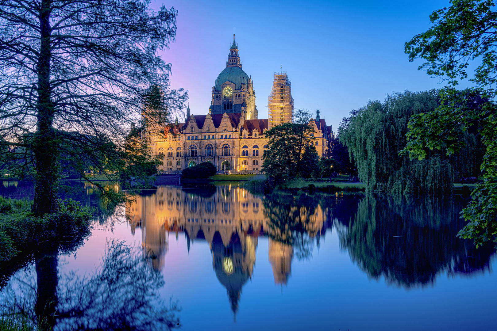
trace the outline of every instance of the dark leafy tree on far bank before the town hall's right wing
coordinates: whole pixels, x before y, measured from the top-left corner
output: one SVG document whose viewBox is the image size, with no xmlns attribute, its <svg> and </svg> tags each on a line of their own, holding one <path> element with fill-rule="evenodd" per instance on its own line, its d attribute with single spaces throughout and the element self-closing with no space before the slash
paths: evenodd
<svg viewBox="0 0 497 331">
<path fill-rule="evenodd" d="M 318 167 L 318 153 L 311 143 L 316 140 L 314 128 L 308 124 L 310 113 L 298 110 L 296 123 L 283 123 L 264 132 L 269 148 L 262 157 L 262 171 L 281 181 L 311 176 Z"/>
</svg>

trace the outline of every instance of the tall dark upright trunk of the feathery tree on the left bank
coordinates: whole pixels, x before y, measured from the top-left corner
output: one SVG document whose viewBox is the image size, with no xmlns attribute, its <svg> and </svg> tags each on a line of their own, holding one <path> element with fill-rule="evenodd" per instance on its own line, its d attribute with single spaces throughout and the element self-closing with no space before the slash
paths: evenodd
<svg viewBox="0 0 497 331">
<path fill-rule="evenodd" d="M 59 179 L 59 151 L 57 133 L 53 128 L 54 107 L 51 100 L 50 60 L 50 11 L 51 0 L 42 0 L 40 6 L 40 57 L 38 73 L 38 130 L 32 140 L 36 159 L 36 186 L 32 212 L 43 216 L 59 210 L 57 181 Z"/>
</svg>

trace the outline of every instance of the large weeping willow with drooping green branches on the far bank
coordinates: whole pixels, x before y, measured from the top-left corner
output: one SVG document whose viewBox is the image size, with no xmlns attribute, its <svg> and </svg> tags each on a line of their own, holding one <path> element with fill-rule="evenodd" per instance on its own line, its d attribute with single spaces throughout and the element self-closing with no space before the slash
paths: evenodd
<svg viewBox="0 0 497 331">
<path fill-rule="evenodd" d="M 339 139 L 355 160 L 359 178 L 367 190 L 391 193 L 450 192 L 454 178 L 474 175 L 479 168 L 475 156 L 477 138 L 462 132 L 466 142 L 459 154 L 450 158 L 440 151 L 427 150 L 422 160 L 399 155 L 407 144 L 411 116 L 431 112 L 439 105 L 435 90 L 395 93 L 385 102 L 371 101 L 351 112 L 342 121 Z"/>
</svg>

